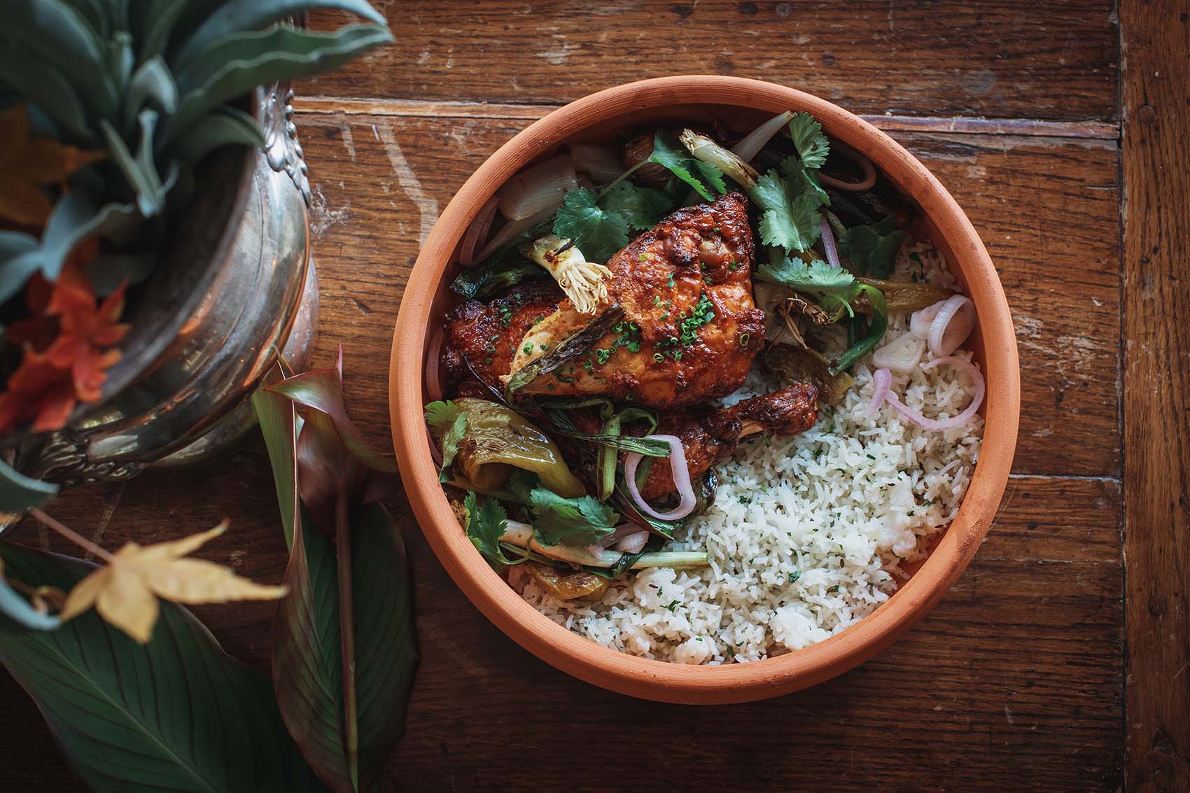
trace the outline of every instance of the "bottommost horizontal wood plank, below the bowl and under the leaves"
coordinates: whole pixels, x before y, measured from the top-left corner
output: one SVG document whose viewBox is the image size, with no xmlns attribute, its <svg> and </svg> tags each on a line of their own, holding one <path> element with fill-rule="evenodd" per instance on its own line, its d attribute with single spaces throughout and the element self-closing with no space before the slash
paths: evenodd
<svg viewBox="0 0 1190 793">
<path fill-rule="evenodd" d="M 206 473 L 151 473 L 123 492 L 76 491 L 54 512 L 93 536 L 118 498 L 102 533 L 114 548 L 206 525 L 227 507 L 231 532 L 203 556 L 278 580 L 284 545 L 259 442 Z M 912 791 L 1119 787 L 1123 582 L 1115 483 L 1014 477 L 970 570 L 906 639 L 814 689 L 718 708 L 610 694 L 522 651 L 453 586 L 406 504 L 390 506 L 409 545 L 422 649 L 409 726 L 389 767 L 402 788 L 625 783 L 601 763 L 576 763 L 558 750 L 560 718 L 577 725 L 583 756 L 616 757 L 624 745 L 637 747 L 632 787 L 643 789 L 675 782 L 718 789 L 727 779 L 772 789 L 852 789 L 873 780 Z M 1044 525 L 1031 525 L 1039 518 Z M 36 543 L 32 526 L 18 531 Z M 233 655 L 267 666 L 270 605 L 199 614 Z M 29 779 L 21 769 L 36 764 L 38 783 L 61 780 L 36 789 L 71 789 L 36 710 L 11 680 L 0 681 L 0 701 L 11 723 L 25 725 L 7 738 L 0 779 Z M 691 732 L 694 720 L 714 729 Z M 675 751 L 675 741 L 691 749 Z M 518 762 L 526 757 L 532 762 Z"/>
</svg>

